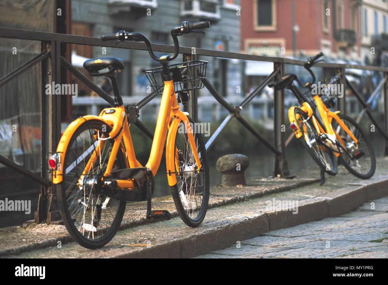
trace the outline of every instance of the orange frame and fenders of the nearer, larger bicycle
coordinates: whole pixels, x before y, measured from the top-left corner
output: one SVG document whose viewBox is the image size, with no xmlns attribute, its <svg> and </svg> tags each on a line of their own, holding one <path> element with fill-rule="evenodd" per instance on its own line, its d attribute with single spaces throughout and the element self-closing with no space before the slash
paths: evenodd
<svg viewBox="0 0 388 285">
<path fill-rule="evenodd" d="M 178 126 L 180 121 L 184 121 L 185 130 L 187 133 L 187 137 L 189 140 L 189 144 L 191 146 L 194 159 L 196 161 L 197 171 L 199 173 L 199 169 L 201 169 L 201 163 L 199 161 L 199 155 L 197 152 L 196 144 L 194 142 L 194 135 L 191 130 L 191 126 L 189 120 L 187 119 L 188 113 L 180 111 L 180 106 L 178 106 L 177 98 L 175 97 L 175 90 L 173 81 L 165 81 L 164 82 L 164 90 L 161 100 L 161 105 L 159 109 L 158 119 L 156 122 L 154 139 L 152 141 L 151 152 L 149 156 L 149 160 L 145 167 L 151 169 L 152 174 L 156 175 L 158 171 L 161 157 L 163 154 L 163 147 L 166 140 L 167 135 L 167 144 L 166 144 L 166 169 L 167 169 L 167 178 L 168 184 L 173 186 L 177 183 L 176 174 L 175 174 L 175 137 L 178 130 Z M 106 114 L 105 111 L 114 109 L 115 112 Z M 61 140 L 57 147 L 57 154 L 59 154 L 59 163 L 64 159 L 66 154 L 66 150 L 68 148 L 68 142 L 74 131 L 83 124 L 85 121 L 99 120 L 103 121 L 105 124 L 112 127 L 112 130 L 109 132 L 110 138 L 114 138 L 114 143 L 112 146 L 111 154 L 109 156 L 109 160 L 107 163 L 106 171 L 104 176 L 109 176 L 111 174 L 112 167 L 114 165 L 114 161 L 116 159 L 116 155 L 118 150 L 122 148 L 123 153 L 126 153 L 126 166 L 128 168 L 142 167 L 142 165 L 137 161 L 135 156 L 135 151 L 133 148 L 132 138 L 129 130 L 128 121 L 125 116 L 125 109 L 123 105 L 114 108 L 107 108 L 101 111 L 99 116 L 83 116 L 75 121 L 73 121 L 66 128 L 63 133 Z M 95 136 L 95 139 L 98 139 L 98 144 L 94 146 L 94 149 L 88 150 L 82 155 L 88 155 L 93 151 L 83 174 L 88 173 L 88 169 L 92 166 L 97 160 L 97 154 L 104 147 L 105 140 L 100 140 L 97 138 L 98 134 Z M 121 140 L 123 139 L 123 140 Z M 124 145 L 122 145 L 122 141 Z M 90 147 L 89 147 L 90 149 Z M 126 150 L 126 151 L 124 151 Z M 87 153 L 88 152 L 88 153 Z M 82 156 L 81 155 L 81 156 Z M 78 159 L 77 159 L 78 161 Z M 59 165 L 60 166 L 60 165 Z M 62 181 L 63 171 L 61 167 L 58 167 L 53 171 L 53 183 L 57 184 Z M 65 170 L 66 171 L 66 170 Z M 118 187 L 120 188 L 135 188 L 132 180 L 117 180 Z"/>
</svg>

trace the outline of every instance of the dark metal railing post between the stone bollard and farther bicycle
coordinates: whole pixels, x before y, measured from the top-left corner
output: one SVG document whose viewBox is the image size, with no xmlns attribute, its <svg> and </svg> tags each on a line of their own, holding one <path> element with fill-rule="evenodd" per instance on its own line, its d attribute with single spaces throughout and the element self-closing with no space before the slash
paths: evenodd
<svg viewBox="0 0 388 285">
<path fill-rule="evenodd" d="M 274 80 L 280 78 L 284 74 L 284 63 L 274 62 L 274 69 L 279 68 L 279 73 Z M 281 152 L 280 155 L 275 154 L 275 165 L 272 173 L 273 177 L 280 175 L 281 177 L 289 176 L 288 164 L 285 154 L 284 145 L 284 89 L 274 91 L 274 143 L 275 148 Z"/>
</svg>

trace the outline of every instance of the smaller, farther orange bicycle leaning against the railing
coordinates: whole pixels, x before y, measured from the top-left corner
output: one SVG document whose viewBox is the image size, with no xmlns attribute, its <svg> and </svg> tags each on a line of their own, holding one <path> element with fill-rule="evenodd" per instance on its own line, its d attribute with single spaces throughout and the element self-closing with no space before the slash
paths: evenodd
<svg viewBox="0 0 388 285">
<path fill-rule="evenodd" d="M 337 174 L 337 157 L 353 175 L 362 179 L 370 178 L 376 170 L 376 157 L 368 135 L 352 118 L 340 114 L 340 111 L 330 110 L 335 106 L 336 97 L 339 95 L 337 88 L 334 88 L 338 78 L 334 76 L 326 80 L 319 93 L 315 89 L 317 86 L 313 87 L 315 75 L 310 67 L 322 56 L 323 53 L 320 52 L 307 59 L 304 64 L 312 76 L 312 80 L 305 85 L 299 81 L 298 76 L 288 73 L 268 86 L 273 86 L 276 90 L 287 88 L 298 100 L 300 105 L 292 106 L 288 110 L 290 127 L 321 168 L 321 184 L 324 183 L 325 172 L 330 175 Z M 302 94 L 293 81 L 309 91 Z M 309 97 L 312 97 L 312 100 Z"/>
</svg>

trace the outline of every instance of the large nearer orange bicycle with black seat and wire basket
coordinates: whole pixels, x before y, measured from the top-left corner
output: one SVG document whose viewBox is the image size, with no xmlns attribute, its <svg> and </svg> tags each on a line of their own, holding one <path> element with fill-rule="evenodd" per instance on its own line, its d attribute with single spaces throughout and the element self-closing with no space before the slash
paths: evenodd
<svg viewBox="0 0 388 285">
<path fill-rule="evenodd" d="M 152 59 L 161 67 L 146 70 L 154 90 L 162 94 L 151 153 L 145 166 L 135 157 L 130 124 L 139 116 L 136 106 L 123 106 L 116 75 L 123 60 L 106 57 L 85 61 L 92 76 L 111 79 L 115 106 L 99 116 L 83 116 L 64 131 L 57 152 L 48 159 L 52 181 L 57 185 L 59 209 L 66 228 L 80 245 L 95 249 L 107 244 L 118 230 L 126 201 L 147 201 L 147 219 L 170 219 L 167 210 L 151 210 L 154 175 L 158 171 L 166 141 L 166 173 L 177 211 L 189 226 L 199 226 L 209 201 L 209 168 L 202 137 L 192 130 L 194 123 L 180 111 L 175 93 L 203 88 L 201 77 L 208 62 L 194 60 L 168 65 L 179 54 L 177 36 L 202 32 L 209 22 L 182 22 L 171 29 L 175 52 L 157 57 L 148 38 L 140 33 L 119 31 L 101 36 L 103 41 L 144 41 Z M 205 76 L 205 75 L 203 75 Z M 162 82 L 160 83 L 160 80 Z M 184 132 L 178 131 L 185 130 Z M 167 140 L 166 140 L 167 137 Z"/>
</svg>

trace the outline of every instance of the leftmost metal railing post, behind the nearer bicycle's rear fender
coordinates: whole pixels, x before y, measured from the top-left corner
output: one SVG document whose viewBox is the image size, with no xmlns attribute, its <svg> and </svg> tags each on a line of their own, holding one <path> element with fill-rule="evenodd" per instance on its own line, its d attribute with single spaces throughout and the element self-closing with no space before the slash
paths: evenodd
<svg viewBox="0 0 388 285">
<path fill-rule="evenodd" d="M 50 57 L 41 63 L 41 176 L 51 181 L 47 169 L 47 154 L 56 150 L 61 136 L 61 95 L 46 95 L 46 85 L 61 84 L 61 43 L 42 41 L 42 52 L 50 51 Z M 51 92 L 50 92 L 51 93 Z M 35 222 L 59 219 L 55 185 L 41 186 Z"/>
</svg>

